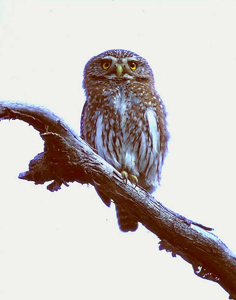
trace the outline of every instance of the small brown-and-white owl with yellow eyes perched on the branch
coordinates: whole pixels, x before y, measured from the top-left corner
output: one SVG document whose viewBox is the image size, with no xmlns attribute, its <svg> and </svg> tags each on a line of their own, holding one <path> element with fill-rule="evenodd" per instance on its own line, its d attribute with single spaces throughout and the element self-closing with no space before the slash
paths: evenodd
<svg viewBox="0 0 236 300">
<path fill-rule="evenodd" d="M 85 65 L 86 101 L 81 136 L 134 186 L 153 193 L 161 180 L 169 133 L 165 106 L 147 61 L 128 50 L 108 50 Z M 107 206 L 109 199 L 96 189 Z M 138 221 L 116 204 L 119 229 L 135 231 Z"/>
</svg>

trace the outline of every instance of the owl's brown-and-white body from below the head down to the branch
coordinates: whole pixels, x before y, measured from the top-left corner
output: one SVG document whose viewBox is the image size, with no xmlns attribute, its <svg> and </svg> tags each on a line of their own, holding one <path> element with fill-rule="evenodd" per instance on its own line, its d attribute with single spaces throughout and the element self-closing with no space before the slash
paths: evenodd
<svg viewBox="0 0 236 300">
<path fill-rule="evenodd" d="M 136 90 L 103 86 L 87 95 L 81 133 L 118 171 L 135 175 L 151 191 L 160 181 L 162 134 L 155 94 L 144 92 L 140 85 Z"/>
</svg>

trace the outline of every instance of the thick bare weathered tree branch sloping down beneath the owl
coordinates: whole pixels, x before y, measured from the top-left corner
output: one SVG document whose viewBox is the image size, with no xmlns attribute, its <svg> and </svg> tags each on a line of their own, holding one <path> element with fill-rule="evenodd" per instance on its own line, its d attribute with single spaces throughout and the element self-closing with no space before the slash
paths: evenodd
<svg viewBox="0 0 236 300">
<path fill-rule="evenodd" d="M 121 174 L 96 154 L 77 133 L 50 110 L 19 102 L 0 102 L 0 120 L 19 119 L 32 125 L 44 140 L 44 152 L 29 163 L 20 179 L 35 184 L 51 182 L 54 192 L 67 182 L 102 187 L 115 203 L 157 235 L 160 250 L 171 251 L 190 263 L 194 273 L 217 282 L 236 300 L 236 255 L 211 228 L 165 207 L 140 187 L 125 184 Z"/>
</svg>

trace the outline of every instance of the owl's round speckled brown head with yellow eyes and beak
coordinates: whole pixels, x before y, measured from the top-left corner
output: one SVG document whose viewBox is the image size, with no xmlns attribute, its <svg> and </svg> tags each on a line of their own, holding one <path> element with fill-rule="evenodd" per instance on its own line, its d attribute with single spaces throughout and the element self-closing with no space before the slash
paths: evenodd
<svg viewBox="0 0 236 300">
<path fill-rule="evenodd" d="M 128 50 L 108 50 L 92 57 L 85 65 L 83 88 L 102 80 L 146 81 L 154 84 L 152 69 L 147 61 Z"/>
</svg>

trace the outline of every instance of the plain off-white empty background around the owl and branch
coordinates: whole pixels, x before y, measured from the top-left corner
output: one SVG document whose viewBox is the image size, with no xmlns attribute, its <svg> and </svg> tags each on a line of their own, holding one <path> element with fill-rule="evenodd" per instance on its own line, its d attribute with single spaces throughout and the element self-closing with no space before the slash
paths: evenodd
<svg viewBox="0 0 236 300">
<path fill-rule="evenodd" d="M 150 63 L 171 141 L 155 197 L 236 252 L 235 1 L 1 1 L 0 100 L 44 105 L 75 130 L 83 67 L 109 49 Z M 92 187 L 17 178 L 39 134 L 0 122 L 0 299 L 225 300 L 139 225 L 118 230 Z"/>
</svg>

